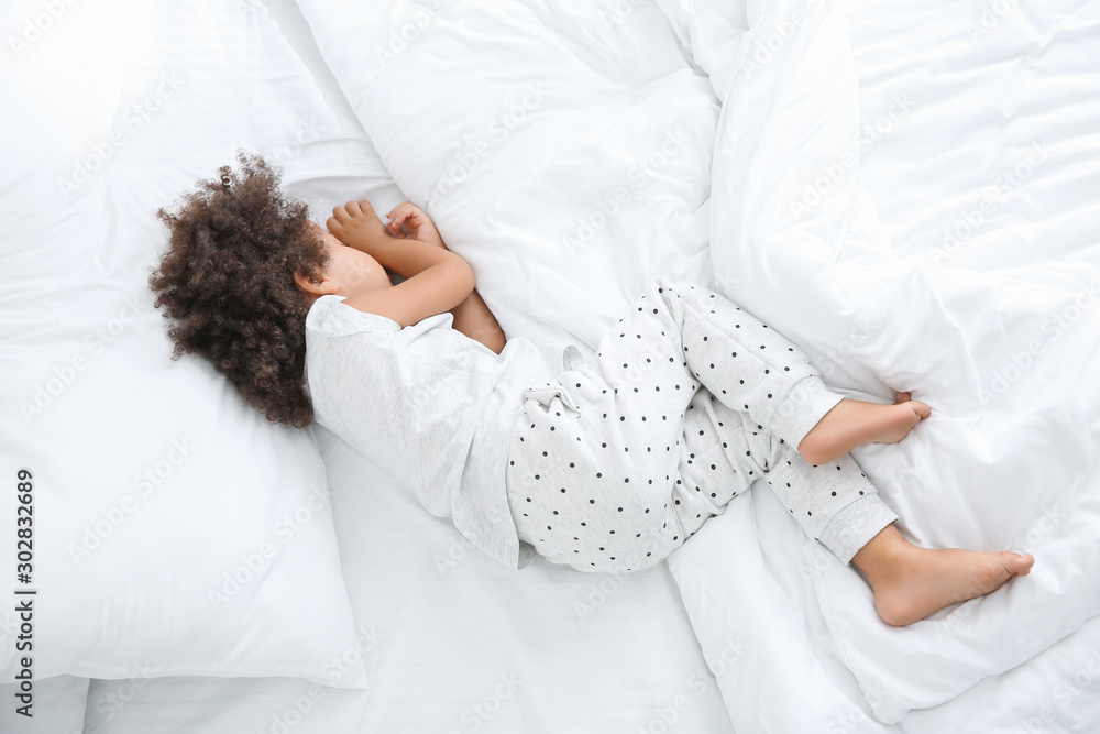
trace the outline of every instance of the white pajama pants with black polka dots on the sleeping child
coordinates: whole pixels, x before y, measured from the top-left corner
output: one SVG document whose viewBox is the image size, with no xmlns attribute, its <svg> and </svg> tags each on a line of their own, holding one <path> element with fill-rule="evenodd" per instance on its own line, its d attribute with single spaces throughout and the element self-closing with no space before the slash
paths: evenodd
<svg viewBox="0 0 1100 734">
<path fill-rule="evenodd" d="M 507 468 L 519 539 L 581 570 L 647 568 L 760 479 L 848 562 L 897 515 L 850 457 L 799 454 L 839 401 L 767 325 L 658 280 L 593 360 L 524 393 Z"/>
</svg>

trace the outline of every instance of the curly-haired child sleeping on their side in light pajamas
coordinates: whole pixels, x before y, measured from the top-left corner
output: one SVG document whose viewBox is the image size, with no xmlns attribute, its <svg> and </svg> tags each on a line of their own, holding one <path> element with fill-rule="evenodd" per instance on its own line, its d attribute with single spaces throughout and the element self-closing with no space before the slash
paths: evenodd
<svg viewBox="0 0 1100 734">
<path fill-rule="evenodd" d="M 349 201 L 322 229 L 262 158 L 220 174 L 158 212 L 172 235 L 150 284 L 174 357 L 210 360 L 274 423 L 316 420 L 513 568 L 648 568 L 762 480 L 864 573 L 888 624 L 1031 570 L 1031 556 L 905 539 L 848 452 L 900 441 L 928 406 L 829 391 L 716 293 L 658 278 L 583 361 L 506 340 L 411 204 L 384 223 Z"/>
</svg>

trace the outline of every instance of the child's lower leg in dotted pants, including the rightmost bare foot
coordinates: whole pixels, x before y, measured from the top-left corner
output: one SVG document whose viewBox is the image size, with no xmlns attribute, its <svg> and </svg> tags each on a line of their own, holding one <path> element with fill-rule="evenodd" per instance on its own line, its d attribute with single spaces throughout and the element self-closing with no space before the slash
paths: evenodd
<svg viewBox="0 0 1100 734">
<path fill-rule="evenodd" d="M 685 461 L 673 493 L 685 535 L 719 512 L 715 505 L 728 502 L 746 480 L 763 479 L 810 537 L 864 571 L 879 615 L 892 625 L 994 591 L 1034 563 L 1014 552 L 914 546 L 850 457 L 812 465 L 750 417 L 711 399 L 694 401 L 685 418 Z"/>
</svg>

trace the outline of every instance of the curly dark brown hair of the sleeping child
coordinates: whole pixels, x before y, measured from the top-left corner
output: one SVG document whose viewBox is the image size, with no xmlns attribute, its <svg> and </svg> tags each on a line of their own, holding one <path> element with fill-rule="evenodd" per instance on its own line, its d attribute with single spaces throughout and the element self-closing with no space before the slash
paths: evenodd
<svg viewBox="0 0 1100 734">
<path fill-rule="evenodd" d="M 306 204 L 279 190 L 282 172 L 238 153 L 238 171 L 200 179 L 176 211 L 156 216 L 172 230 L 148 278 L 155 306 L 173 319 L 172 359 L 210 360 L 272 423 L 314 421 L 305 392 L 310 299 L 294 274 L 320 275 L 328 253 L 310 232 Z"/>
</svg>

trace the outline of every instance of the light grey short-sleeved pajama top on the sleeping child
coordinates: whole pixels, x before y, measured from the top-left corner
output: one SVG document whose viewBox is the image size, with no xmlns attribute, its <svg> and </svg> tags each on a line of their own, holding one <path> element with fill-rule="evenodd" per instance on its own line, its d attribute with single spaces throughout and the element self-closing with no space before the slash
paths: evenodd
<svg viewBox="0 0 1100 734">
<path fill-rule="evenodd" d="M 505 481 L 526 388 L 581 362 L 569 346 L 509 339 L 497 355 L 440 314 L 396 321 L 318 298 L 306 317 L 306 390 L 317 423 L 451 516 L 475 546 L 513 568 L 534 560 L 520 543 Z"/>
</svg>

